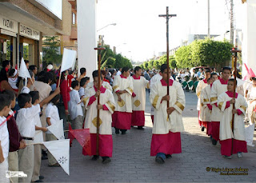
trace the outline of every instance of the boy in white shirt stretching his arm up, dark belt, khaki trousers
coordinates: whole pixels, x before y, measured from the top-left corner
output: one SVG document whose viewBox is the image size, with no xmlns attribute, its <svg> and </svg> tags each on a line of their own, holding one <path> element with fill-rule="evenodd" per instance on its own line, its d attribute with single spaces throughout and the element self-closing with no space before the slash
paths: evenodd
<svg viewBox="0 0 256 183">
<path fill-rule="evenodd" d="M 19 178 L 21 182 L 32 181 L 32 174 L 34 170 L 34 146 L 29 145 L 34 142 L 35 130 L 47 131 L 46 128 L 36 126 L 34 119 L 41 111 L 42 105 L 47 104 L 55 95 L 60 92 L 57 88 L 53 94 L 46 97 L 43 101 L 38 101 L 37 105 L 32 105 L 32 98 L 30 94 L 21 93 L 18 95 L 18 105 L 21 109 L 18 110 L 17 125 L 23 139 L 26 141 L 26 148 L 18 151 L 18 169 L 27 174 L 27 177 Z"/>
</svg>

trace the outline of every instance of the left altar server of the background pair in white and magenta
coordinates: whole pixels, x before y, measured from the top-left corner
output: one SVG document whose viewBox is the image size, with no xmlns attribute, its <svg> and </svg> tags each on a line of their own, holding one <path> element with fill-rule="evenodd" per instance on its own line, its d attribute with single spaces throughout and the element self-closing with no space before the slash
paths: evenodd
<svg viewBox="0 0 256 183">
<path fill-rule="evenodd" d="M 115 133 L 126 134 L 126 130 L 130 129 L 132 101 L 131 96 L 134 93 L 133 80 L 130 77 L 128 67 L 122 68 L 122 74 L 114 77 L 113 83 L 115 111 L 112 115 L 112 126 L 115 127 Z"/>
</svg>

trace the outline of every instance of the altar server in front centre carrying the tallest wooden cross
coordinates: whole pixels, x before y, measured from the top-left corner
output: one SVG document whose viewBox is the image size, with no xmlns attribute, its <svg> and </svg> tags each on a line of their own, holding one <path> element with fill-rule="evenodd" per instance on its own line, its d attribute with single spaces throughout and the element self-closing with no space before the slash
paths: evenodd
<svg viewBox="0 0 256 183">
<path fill-rule="evenodd" d="M 182 153 L 180 132 L 184 130 L 182 111 L 185 107 L 185 94 L 182 86 L 170 79 L 170 96 L 167 95 L 167 72 L 167 65 L 163 64 L 162 80 L 150 88 L 150 102 L 155 108 L 150 156 L 156 156 L 155 161 L 159 164 L 164 163 L 173 153 Z M 168 101 L 170 107 L 167 109 Z"/>
</svg>

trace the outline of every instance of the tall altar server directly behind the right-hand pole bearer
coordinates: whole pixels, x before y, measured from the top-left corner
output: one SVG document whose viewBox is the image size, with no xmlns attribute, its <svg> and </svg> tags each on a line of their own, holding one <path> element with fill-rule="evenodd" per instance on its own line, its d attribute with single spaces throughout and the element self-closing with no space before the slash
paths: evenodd
<svg viewBox="0 0 256 183">
<path fill-rule="evenodd" d="M 210 104 L 213 106 L 211 112 L 211 127 L 212 127 L 212 144 L 216 145 L 219 140 L 219 122 L 222 119 L 221 110 L 218 109 L 218 96 L 227 91 L 227 82 L 230 79 L 230 67 L 223 67 L 222 78 L 215 81 L 211 87 Z"/>
</svg>

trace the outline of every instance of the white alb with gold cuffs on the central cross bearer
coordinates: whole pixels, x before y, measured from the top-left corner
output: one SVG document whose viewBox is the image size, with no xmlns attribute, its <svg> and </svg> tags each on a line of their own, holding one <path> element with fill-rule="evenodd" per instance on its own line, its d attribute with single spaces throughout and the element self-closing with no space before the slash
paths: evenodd
<svg viewBox="0 0 256 183">
<path fill-rule="evenodd" d="M 169 131 L 184 131 L 182 121 L 182 111 L 185 107 L 185 94 L 182 86 L 178 82 L 173 82 L 169 87 L 170 91 L 170 107 L 174 107 L 174 111 L 169 115 L 167 121 L 167 101 L 162 101 L 162 97 L 167 94 L 167 86 L 162 86 L 162 82 L 156 82 L 150 88 L 150 102 L 154 106 L 154 126 L 152 133 L 167 134 Z"/>
</svg>

